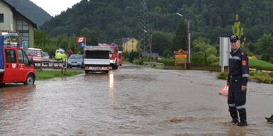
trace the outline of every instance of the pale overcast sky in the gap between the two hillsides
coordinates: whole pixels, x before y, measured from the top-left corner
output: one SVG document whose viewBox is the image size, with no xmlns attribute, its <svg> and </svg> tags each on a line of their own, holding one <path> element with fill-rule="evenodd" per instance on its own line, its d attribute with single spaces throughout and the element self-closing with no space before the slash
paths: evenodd
<svg viewBox="0 0 273 136">
<path fill-rule="evenodd" d="M 40 6 L 48 12 L 51 16 L 56 16 L 62 11 L 72 7 L 81 0 L 31 0 L 34 4 Z"/>
</svg>

